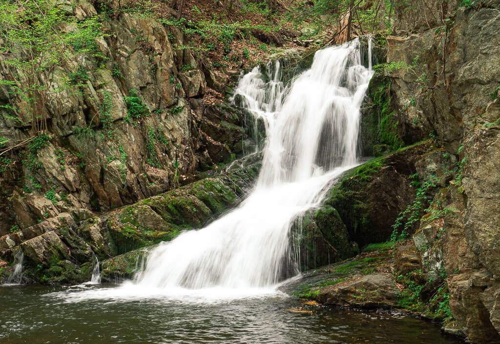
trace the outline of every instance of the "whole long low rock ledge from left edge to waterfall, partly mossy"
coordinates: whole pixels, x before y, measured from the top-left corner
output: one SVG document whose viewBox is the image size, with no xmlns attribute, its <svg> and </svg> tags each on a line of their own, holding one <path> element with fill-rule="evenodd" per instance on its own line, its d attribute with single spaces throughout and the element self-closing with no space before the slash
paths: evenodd
<svg viewBox="0 0 500 344">
<path fill-rule="evenodd" d="M 135 263 L 145 255 L 144 247 L 201 227 L 241 201 L 259 167 L 260 156 L 254 154 L 219 173 L 117 210 L 59 213 L 0 237 L 0 257 L 11 261 L 20 247 L 26 274 L 43 283 L 89 280 L 95 257 L 105 260 L 104 280 L 129 278 L 140 266 Z"/>
</svg>

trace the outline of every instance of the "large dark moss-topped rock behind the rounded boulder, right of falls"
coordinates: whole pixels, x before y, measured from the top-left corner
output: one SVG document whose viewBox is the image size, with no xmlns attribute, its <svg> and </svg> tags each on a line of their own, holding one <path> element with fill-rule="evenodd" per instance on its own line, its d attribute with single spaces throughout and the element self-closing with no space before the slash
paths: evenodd
<svg viewBox="0 0 500 344">
<path fill-rule="evenodd" d="M 395 218 L 415 197 L 409 175 L 415 161 L 432 149 L 429 141 L 400 148 L 347 171 L 323 204 L 338 211 L 349 242 L 359 246 L 389 238 Z"/>
</svg>

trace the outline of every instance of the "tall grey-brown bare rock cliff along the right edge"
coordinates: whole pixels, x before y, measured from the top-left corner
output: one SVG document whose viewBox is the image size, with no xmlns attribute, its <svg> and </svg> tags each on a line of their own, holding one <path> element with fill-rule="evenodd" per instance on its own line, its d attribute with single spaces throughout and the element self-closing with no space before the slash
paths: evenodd
<svg viewBox="0 0 500 344">
<path fill-rule="evenodd" d="M 450 308 L 465 334 L 498 342 L 500 2 L 440 3 L 430 7 L 437 21 L 424 20 L 418 8 L 398 12 L 401 28 L 412 32 L 387 37 L 387 61 L 414 65 L 387 73 L 401 137 L 410 143 L 430 133 L 458 161 L 433 202 L 446 216 L 422 218 L 414 238 L 426 273 L 445 271 Z"/>
</svg>

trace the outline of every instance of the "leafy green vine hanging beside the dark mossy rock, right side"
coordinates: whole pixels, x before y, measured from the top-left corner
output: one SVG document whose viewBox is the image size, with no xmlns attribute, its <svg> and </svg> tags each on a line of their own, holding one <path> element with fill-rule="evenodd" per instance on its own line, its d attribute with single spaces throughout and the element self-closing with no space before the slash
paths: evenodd
<svg viewBox="0 0 500 344">
<path fill-rule="evenodd" d="M 420 215 L 423 206 L 428 203 L 428 193 L 436 187 L 439 178 L 435 175 L 425 180 L 422 185 L 416 190 L 416 196 L 412 203 L 399 213 L 394 224 L 392 224 L 392 233 L 390 241 L 399 241 L 409 236 L 409 230 L 413 224 L 420 220 Z"/>
</svg>

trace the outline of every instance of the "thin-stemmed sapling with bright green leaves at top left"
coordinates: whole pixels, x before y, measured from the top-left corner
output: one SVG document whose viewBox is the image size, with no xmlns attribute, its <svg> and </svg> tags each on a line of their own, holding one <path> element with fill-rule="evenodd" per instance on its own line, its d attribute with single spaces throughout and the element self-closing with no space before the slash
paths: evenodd
<svg viewBox="0 0 500 344">
<path fill-rule="evenodd" d="M 30 125 L 31 134 L 47 130 L 47 111 L 43 104 L 51 93 L 63 91 L 68 85 L 47 87 L 55 74 L 63 72 L 66 61 L 74 57 L 74 50 L 84 51 L 89 39 L 96 47 L 94 19 L 76 22 L 74 16 L 66 16 L 60 5 L 51 0 L 1 1 L 0 2 L 0 53 L 3 62 L 17 70 L 11 79 L 0 79 L 0 85 L 16 95 L 23 108 L 9 106 L 9 114 L 20 125 Z M 70 27 L 72 31 L 61 30 Z M 100 24 L 99 24 L 100 25 Z M 71 83 L 84 81 L 85 73 L 77 70 L 70 74 Z"/>
</svg>

